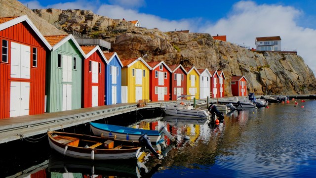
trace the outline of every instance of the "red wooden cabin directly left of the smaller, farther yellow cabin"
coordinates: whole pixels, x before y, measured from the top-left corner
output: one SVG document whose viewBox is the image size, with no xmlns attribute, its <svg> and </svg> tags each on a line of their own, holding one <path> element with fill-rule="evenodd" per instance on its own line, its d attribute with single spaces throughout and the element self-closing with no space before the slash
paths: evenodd
<svg viewBox="0 0 316 178">
<path fill-rule="evenodd" d="M 187 71 L 181 64 L 168 65 L 171 72 L 170 93 L 171 100 L 177 100 L 177 96 L 187 94 Z"/>
</svg>

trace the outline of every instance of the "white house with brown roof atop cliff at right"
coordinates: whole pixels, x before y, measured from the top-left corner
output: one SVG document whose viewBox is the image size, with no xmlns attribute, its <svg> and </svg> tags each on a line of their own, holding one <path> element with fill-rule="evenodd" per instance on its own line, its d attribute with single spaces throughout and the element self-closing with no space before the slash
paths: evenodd
<svg viewBox="0 0 316 178">
<path fill-rule="evenodd" d="M 256 38 L 257 51 L 280 51 L 281 38 L 276 37 L 257 37 Z"/>
</svg>

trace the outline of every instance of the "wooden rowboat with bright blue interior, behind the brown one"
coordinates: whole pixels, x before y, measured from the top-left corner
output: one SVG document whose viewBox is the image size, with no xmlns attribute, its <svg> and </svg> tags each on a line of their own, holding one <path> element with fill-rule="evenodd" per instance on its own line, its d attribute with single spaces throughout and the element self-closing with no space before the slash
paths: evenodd
<svg viewBox="0 0 316 178">
<path fill-rule="evenodd" d="M 142 134 L 149 136 L 151 142 L 159 142 L 161 140 L 161 134 L 158 131 L 135 129 L 123 126 L 116 126 L 110 124 L 90 123 L 90 128 L 93 134 L 101 135 L 116 135 L 117 139 L 138 141 L 138 138 Z"/>
</svg>

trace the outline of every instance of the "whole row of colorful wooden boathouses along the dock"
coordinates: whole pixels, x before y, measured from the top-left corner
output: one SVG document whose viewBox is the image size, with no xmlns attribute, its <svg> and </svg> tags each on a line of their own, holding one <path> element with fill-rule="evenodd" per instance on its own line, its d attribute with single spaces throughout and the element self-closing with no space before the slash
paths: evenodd
<svg viewBox="0 0 316 178">
<path fill-rule="evenodd" d="M 0 45 L 0 119 L 142 99 L 176 100 L 182 94 L 224 96 L 222 71 L 142 57 L 120 60 L 98 45 L 79 45 L 72 35 L 42 36 L 27 16 L 0 18 Z M 245 95 L 246 79 L 236 81 Z"/>
</svg>

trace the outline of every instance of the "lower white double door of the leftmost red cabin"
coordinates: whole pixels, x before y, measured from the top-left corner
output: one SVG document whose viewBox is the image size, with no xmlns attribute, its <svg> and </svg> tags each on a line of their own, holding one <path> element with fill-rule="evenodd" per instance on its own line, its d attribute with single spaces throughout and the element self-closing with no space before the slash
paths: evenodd
<svg viewBox="0 0 316 178">
<path fill-rule="evenodd" d="M 10 117 L 29 115 L 30 83 L 11 82 L 10 84 Z"/>
</svg>

